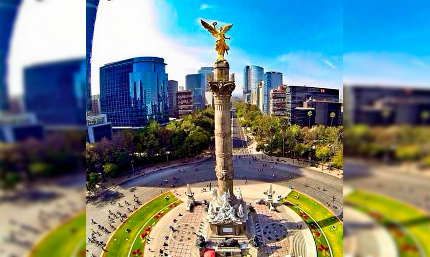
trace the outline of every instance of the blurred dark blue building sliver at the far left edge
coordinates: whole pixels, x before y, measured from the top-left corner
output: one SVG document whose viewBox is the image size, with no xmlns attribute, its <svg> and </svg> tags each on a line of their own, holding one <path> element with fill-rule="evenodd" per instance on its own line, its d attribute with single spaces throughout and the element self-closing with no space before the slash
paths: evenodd
<svg viewBox="0 0 430 257">
<path fill-rule="evenodd" d="M 7 58 L 13 23 L 21 0 L 0 1 L 0 112 L 8 109 Z"/>
</svg>

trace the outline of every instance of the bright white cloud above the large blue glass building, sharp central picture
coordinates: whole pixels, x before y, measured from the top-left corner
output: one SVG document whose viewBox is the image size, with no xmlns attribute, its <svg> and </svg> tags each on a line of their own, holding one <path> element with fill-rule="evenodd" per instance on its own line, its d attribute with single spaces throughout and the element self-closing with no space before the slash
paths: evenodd
<svg viewBox="0 0 430 257">
<path fill-rule="evenodd" d="M 133 2 L 133 3 L 130 3 Z M 99 92 L 99 67 L 139 56 L 164 58 L 169 80 L 185 86 L 185 75 L 197 73 L 210 49 L 190 47 L 179 38 L 159 31 L 155 6 L 146 1 L 100 2 L 95 23 L 92 54 L 92 94 Z M 128 28 L 128 29 L 127 29 Z"/>
</svg>

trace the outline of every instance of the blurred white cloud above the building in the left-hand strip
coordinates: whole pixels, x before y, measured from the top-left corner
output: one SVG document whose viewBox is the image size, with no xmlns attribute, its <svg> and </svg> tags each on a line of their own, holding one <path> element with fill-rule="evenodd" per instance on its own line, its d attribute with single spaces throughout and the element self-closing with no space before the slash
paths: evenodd
<svg viewBox="0 0 430 257">
<path fill-rule="evenodd" d="M 83 1 L 22 1 L 9 50 L 9 93 L 23 93 L 23 68 L 43 62 L 85 58 Z"/>
</svg>

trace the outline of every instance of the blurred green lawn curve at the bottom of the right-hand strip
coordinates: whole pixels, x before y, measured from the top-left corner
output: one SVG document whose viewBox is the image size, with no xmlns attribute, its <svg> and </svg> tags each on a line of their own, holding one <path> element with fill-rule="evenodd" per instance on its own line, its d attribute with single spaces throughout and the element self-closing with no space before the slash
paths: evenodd
<svg viewBox="0 0 430 257">
<path fill-rule="evenodd" d="M 419 256 L 417 250 L 413 249 L 416 243 L 412 237 L 418 241 L 426 256 L 430 256 L 430 245 L 428 244 L 430 219 L 419 210 L 388 197 L 361 190 L 348 195 L 345 203 L 353 205 L 356 209 L 369 214 L 387 226 L 401 256 Z"/>
</svg>

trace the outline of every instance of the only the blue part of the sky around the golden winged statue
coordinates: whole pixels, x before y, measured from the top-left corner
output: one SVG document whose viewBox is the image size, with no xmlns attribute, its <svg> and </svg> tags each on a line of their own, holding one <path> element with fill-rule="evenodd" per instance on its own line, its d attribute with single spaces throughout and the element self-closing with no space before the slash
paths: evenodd
<svg viewBox="0 0 430 257">
<path fill-rule="evenodd" d="M 226 59 L 236 73 L 236 95 L 241 95 L 243 67 L 250 64 L 283 72 L 285 84 L 343 87 L 343 6 L 338 1 L 159 1 L 155 5 L 162 33 L 205 49 L 209 55 L 200 59 L 207 65 L 216 58 L 214 39 L 199 19 L 234 24 Z"/>
</svg>

